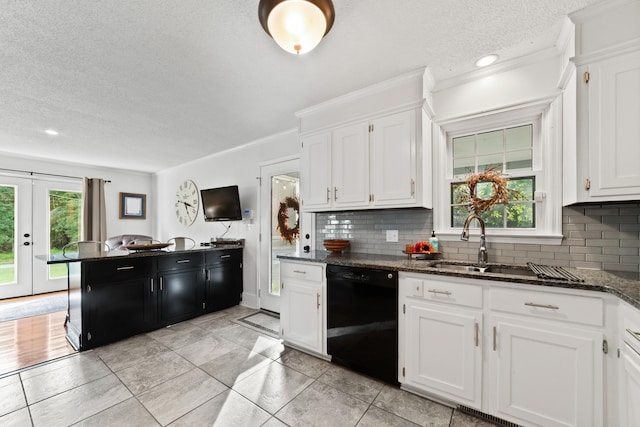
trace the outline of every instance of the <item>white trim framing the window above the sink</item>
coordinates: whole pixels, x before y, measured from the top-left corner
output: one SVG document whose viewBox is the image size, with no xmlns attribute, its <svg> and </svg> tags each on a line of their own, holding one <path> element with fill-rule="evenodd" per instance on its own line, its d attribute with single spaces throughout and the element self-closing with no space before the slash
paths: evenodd
<svg viewBox="0 0 640 427">
<path fill-rule="evenodd" d="M 486 230 L 494 243 L 559 245 L 562 242 L 562 99 L 561 94 L 499 110 L 434 122 L 433 224 L 444 241 L 460 240 L 462 229 L 451 227 L 450 183 L 453 181 L 452 137 L 534 122 L 533 171 L 536 176 L 536 229 Z M 537 124 L 536 124 L 537 122 Z M 535 132 L 539 133 L 536 138 Z M 522 174 L 526 176 L 527 173 Z M 514 173 L 514 177 L 521 176 Z M 471 233 L 470 240 L 478 240 Z"/>
</svg>

